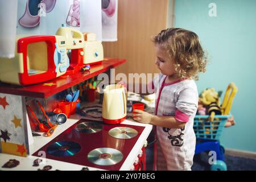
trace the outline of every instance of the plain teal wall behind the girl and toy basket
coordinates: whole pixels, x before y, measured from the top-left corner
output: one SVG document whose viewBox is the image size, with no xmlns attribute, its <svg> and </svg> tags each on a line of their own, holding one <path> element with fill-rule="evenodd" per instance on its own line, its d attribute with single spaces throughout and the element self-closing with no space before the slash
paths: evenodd
<svg viewBox="0 0 256 182">
<path fill-rule="evenodd" d="M 208 15 L 209 3 L 216 3 L 217 17 Z M 236 125 L 224 130 L 221 143 L 256 152 L 256 1 L 176 0 L 175 17 L 174 26 L 196 32 L 208 51 L 199 92 L 213 87 L 223 96 L 229 82 L 238 87 L 231 110 Z"/>
</svg>

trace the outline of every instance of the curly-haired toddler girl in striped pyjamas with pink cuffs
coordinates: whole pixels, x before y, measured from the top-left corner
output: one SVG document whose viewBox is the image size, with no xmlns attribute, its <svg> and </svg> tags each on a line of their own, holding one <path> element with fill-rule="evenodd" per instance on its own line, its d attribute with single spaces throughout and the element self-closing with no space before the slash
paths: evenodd
<svg viewBox="0 0 256 182">
<path fill-rule="evenodd" d="M 198 104 L 195 79 L 207 59 L 198 36 L 168 28 L 155 36 L 155 64 L 160 73 L 150 83 L 156 93 L 155 114 L 135 110 L 134 120 L 156 126 L 158 170 L 191 170 L 196 136 L 193 118 Z"/>
</svg>

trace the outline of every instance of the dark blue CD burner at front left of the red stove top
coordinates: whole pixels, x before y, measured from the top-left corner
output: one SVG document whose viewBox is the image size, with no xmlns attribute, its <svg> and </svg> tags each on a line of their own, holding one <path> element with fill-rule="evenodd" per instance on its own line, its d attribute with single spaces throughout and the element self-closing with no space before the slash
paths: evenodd
<svg viewBox="0 0 256 182">
<path fill-rule="evenodd" d="M 75 155 L 81 149 L 80 144 L 70 141 L 60 141 L 47 147 L 47 153 L 57 157 Z"/>
</svg>

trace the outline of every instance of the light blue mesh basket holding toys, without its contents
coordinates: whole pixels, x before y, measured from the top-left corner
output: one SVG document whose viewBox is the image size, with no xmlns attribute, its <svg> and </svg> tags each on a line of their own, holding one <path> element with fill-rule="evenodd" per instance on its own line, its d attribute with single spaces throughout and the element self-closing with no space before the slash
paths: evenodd
<svg viewBox="0 0 256 182">
<path fill-rule="evenodd" d="M 193 129 L 197 139 L 218 140 L 225 123 L 231 115 L 215 115 L 213 121 L 209 121 L 209 115 L 196 115 Z"/>
</svg>

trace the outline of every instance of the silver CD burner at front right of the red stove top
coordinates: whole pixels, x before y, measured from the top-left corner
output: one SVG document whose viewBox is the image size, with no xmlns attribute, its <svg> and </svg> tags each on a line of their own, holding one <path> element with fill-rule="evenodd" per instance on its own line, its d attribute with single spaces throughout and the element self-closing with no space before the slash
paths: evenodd
<svg viewBox="0 0 256 182">
<path fill-rule="evenodd" d="M 96 148 L 89 152 L 87 158 L 93 164 L 110 166 L 119 163 L 123 154 L 115 148 Z"/>
</svg>

